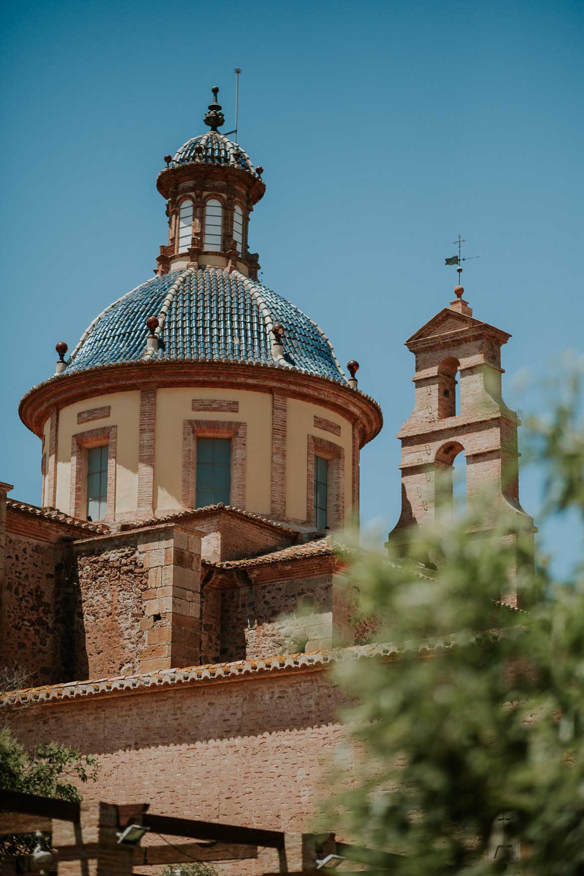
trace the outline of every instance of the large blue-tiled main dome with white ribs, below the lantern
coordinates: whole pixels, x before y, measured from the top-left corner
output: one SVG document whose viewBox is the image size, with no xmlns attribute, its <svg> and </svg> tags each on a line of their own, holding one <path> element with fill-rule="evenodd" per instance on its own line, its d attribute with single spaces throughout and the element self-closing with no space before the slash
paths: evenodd
<svg viewBox="0 0 584 876">
<path fill-rule="evenodd" d="M 159 359 L 229 359 L 286 365 L 346 378 L 319 327 L 290 301 L 221 268 L 186 268 L 137 286 L 95 318 L 64 373 L 147 358 L 146 320 L 158 316 Z M 271 353 L 271 327 L 284 326 L 284 360 Z"/>
</svg>

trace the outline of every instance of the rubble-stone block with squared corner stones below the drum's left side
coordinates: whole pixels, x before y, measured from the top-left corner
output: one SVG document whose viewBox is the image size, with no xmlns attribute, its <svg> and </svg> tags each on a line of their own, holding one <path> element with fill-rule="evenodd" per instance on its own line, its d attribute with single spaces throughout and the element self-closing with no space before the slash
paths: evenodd
<svg viewBox="0 0 584 876">
<path fill-rule="evenodd" d="M 165 524 L 75 543 L 78 678 L 199 662 L 201 538 Z"/>
</svg>

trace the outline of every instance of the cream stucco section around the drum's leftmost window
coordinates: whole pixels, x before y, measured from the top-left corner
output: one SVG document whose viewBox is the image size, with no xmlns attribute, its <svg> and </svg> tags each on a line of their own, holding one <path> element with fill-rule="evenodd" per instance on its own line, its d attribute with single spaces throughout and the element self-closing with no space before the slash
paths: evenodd
<svg viewBox="0 0 584 876">
<path fill-rule="evenodd" d="M 77 414 L 91 407 L 110 407 L 109 417 L 77 423 Z M 136 511 L 138 427 L 140 420 L 140 393 L 113 392 L 93 399 L 78 401 L 60 410 L 57 451 L 57 498 L 61 511 L 74 513 L 70 507 L 71 439 L 74 434 L 104 426 L 117 427 L 116 442 L 116 516 Z M 48 439 L 46 439 L 47 441 Z"/>
</svg>

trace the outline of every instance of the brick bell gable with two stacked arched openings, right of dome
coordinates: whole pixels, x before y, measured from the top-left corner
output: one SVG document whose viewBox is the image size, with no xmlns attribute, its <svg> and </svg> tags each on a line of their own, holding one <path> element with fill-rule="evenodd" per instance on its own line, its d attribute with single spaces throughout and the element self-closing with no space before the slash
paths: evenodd
<svg viewBox="0 0 584 876">
<path fill-rule="evenodd" d="M 501 347 L 510 338 L 473 316 L 462 286 L 405 345 L 416 357 L 415 404 L 402 442 L 402 510 L 390 539 L 453 508 L 453 463 L 466 465 L 468 512 L 481 509 L 476 536 L 503 512 L 527 532 L 533 519 L 519 504 L 517 413 L 501 394 Z M 510 526 L 510 529 L 514 529 Z M 516 536 L 505 538 L 516 546 Z"/>
</svg>

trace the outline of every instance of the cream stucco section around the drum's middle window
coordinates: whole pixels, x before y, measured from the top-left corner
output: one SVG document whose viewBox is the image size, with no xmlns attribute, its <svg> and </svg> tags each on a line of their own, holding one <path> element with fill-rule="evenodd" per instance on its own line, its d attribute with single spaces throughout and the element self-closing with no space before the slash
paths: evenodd
<svg viewBox="0 0 584 876">
<path fill-rule="evenodd" d="M 193 411 L 193 399 L 236 401 L 239 411 Z M 154 497 L 157 513 L 181 507 L 183 420 L 235 420 L 247 423 L 245 510 L 269 514 L 271 393 L 232 389 L 158 390 L 154 454 Z"/>
</svg>

